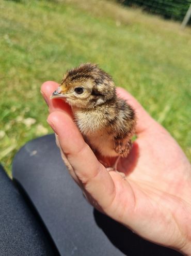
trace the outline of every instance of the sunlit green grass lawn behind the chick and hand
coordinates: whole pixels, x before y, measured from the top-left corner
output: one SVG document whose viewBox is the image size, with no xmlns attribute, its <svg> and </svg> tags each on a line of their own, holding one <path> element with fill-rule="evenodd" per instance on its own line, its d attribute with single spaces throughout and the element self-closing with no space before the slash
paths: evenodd
<svg viewBox="0 0 191 256">
<path fill-rule="evenodd" d="M 100 8 L 102 7 L 102 8 Z M 43 81 L 98 63 L 176 138 L 191 159 L 191 30 L 105 1 L 0 0 L 0 160 L 51 132 Z M 29 119 L 28 119 L 29 118 Z"/>
</svg>

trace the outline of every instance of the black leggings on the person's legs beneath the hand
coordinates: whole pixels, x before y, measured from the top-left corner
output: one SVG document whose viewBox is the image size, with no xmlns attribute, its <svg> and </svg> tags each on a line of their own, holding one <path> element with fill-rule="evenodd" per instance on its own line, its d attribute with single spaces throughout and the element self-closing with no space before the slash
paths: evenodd
<svg viewBox="0 0 191 256">
<path fill-rule="evenodd" d="M 2 172 L 1 175 L 5 176 Z M 5 243 L 9 241 L 11 253 L 5 253 L 0 245 L 0 255 L 56 255 L 49 237 L 37 222 L 37 216 L 31 214 L 28 205 L 15 200 L 12 182 L 6 176 L 4 179 L 6 182 L 0 179 L 0 240 L 4 239 Z M 13 161 L 13 180 L 33 202 L 63 256 L 181 255 L 149 243 L 93 209 L 68 174 L 53 134 L 30 141 L 17 153 Z M 7 191 L 9 187 L 14 193 Z M 23 211 L 24 218 L 20 213 Z M 17 243 L 11 243 L 12 237 L 17 238 Z M 33 253 L 30 253 L 30 249 Z M 19 253 L 14 253 L 17 250 Z"/>
</svg>

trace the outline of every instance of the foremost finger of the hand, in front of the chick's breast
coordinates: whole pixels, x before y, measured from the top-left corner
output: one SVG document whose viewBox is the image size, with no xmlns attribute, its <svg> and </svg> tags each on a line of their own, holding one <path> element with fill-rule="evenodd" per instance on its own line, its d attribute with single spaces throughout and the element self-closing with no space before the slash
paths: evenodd
<svg viewBox="0 0 191 256">
<path fill-rule="evenodd" d="M 113 202 L 115 186 L 106 168 L 95 157 L 77 126 L 65 112 L 52 112 L 48 122 L 56 132 L 60 147 L 84 189 L 101 208 L 107 208 Z"/>
</svg>

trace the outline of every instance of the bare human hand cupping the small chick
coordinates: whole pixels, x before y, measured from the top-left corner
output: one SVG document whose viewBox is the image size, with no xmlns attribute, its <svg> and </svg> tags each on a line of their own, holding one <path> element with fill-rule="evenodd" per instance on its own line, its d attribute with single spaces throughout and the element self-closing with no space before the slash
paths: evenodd
<svg viewBox="0 0 191 256">
<path fill-rule="evenodd" d="M 128 158 L 118 164 L 125 178 L 107 172 L 73 122 L 69 105 L 49 99 L 57 87 L 45 82 L 41 88 L 49 105 L 48 122 L 71 176 L 90 203 L 145 239 L 191 255 L 191 167 L 177 142 L 118 88 L 118 95 L 137 112 L 137 139 Z"/>
</svg>

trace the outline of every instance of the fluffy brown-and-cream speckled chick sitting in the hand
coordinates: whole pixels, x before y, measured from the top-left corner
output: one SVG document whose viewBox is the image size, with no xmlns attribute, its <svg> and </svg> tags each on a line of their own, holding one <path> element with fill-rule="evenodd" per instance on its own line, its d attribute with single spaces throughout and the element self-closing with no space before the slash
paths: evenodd
<svg viewBox="0 0 191 256">
<path fill-rule="evenodd" d="M 135 130 L 135 111 L 118 98 L 112 78 L 86 63 L 68 70 L 51 98 L 65 98 L 85 141 L 104 157 L 126 157 Z M 117 167 L 117 162 L 115 168 Z"/>
</svg>

